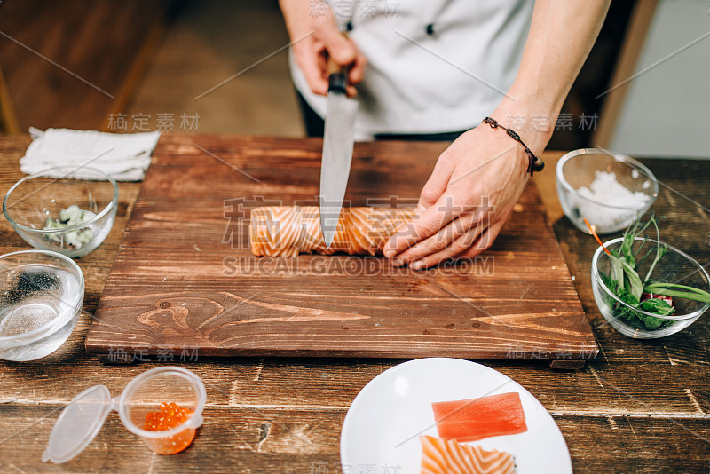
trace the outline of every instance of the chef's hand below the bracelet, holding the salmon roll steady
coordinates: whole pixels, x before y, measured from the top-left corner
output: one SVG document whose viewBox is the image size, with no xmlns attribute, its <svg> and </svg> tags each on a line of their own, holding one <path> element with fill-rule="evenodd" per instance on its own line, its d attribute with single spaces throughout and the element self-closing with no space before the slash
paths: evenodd
<svg viewBox="0 0 710 474">
<path fill-rule="evenodd" d="M 418 217 L 392 235 L 385 257 L 418 270 L 488 249 L 523 192 L 527 165 L 523 147 L 502 130 L 467 131 L 438 157 Z"/>
</svg>

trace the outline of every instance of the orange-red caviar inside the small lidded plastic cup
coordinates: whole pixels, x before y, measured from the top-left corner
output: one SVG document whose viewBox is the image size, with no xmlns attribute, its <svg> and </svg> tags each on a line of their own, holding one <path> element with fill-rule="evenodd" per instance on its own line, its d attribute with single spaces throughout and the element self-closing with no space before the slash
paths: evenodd
<svg viewBox="0 0 710 474">
<path fill-rule="evenodd" d="M 185 423 L 192 415 L 193 412 L 189 408 L 177 407 L 174 402 L 163 402 L 160 411 L 146 413 L 146 424 L 143 429 L 146 431 L 170 430 Z M 146 439 L 146 443 L 158 454 L 176 454 L 190 446 L 194 434 L 193 428 L 187 428 L 168 438 Z"/>
</svg>

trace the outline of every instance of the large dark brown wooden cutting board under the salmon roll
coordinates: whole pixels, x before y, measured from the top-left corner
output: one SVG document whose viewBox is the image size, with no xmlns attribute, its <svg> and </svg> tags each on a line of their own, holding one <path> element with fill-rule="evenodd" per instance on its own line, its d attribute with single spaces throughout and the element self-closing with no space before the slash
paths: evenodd
<svg viewBox="0 0 710 474">
<path fill-rule="evenodd" d="M 249 209 L 317 205 L 315 139 L 163 136 L 86 339 L 90 352 L 582 360 L 597 346 L 533 184 L 466 265 L 253 257 Z M 357 144 L 346 201 L 416 202 L 442 143 Z M 554 172 L 554 170 L 545 170 Z"/>
</svg>

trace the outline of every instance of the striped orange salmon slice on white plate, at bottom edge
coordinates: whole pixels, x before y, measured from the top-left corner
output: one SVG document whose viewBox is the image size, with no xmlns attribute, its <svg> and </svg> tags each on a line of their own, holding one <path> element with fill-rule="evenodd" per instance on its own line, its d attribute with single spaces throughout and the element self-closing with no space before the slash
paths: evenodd
<svg viewBox="0 0 710 474">
<path fill-rule="evenodd" d="M 513 474 L 513 454 L 460 445 L 452 439 L 420 436 L 422 474 Z"/>
</svg>

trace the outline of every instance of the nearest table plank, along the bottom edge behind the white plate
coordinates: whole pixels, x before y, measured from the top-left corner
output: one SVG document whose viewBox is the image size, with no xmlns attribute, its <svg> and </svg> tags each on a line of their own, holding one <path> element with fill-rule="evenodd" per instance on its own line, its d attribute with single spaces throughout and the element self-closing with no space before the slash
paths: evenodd
<svg viewBox="0 0 710 474">
<path fill-rule="evenodd" d="M 60 466 L 39 462 L 61 406 L 0 407 L 0 470 L 283 473 L 340 472 L 339 434 L 345 409 L 208 407 L 193 445 L 173 456 L 151 454 L 116 414 L 91 445 Z M 575 472 L 706 472 L 710 420 L 636 416 L 554 415 L 570 446 Z M 343 466 L 357 473 L 361 466 Z M 350 470 L 348 470 L 350 468 Z M 383 474 L 383 466 L 375 466 Z"/>
</svg>

